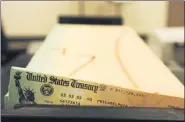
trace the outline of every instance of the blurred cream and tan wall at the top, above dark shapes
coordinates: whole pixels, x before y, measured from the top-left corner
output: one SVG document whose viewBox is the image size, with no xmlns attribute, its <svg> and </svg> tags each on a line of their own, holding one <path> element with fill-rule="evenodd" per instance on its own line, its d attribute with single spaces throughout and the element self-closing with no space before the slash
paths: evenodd
<svg viewBox="0 0 185 122">
<path fill-rule="evenodd" d="M 140 34 L 184 26 L 184 3 L 168 1 L 3 1 L 2 22 L 8 37 L 46 36 L 59 16 L 121 17 Z"/>
</svg>

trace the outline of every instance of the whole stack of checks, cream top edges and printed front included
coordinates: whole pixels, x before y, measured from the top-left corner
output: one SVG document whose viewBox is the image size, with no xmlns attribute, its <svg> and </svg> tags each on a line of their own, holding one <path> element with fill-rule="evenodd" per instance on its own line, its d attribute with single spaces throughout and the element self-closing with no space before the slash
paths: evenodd
<svg viewBox="0 0 185 122">
<path fill-rule="evenodd" d="M 184 108 L 184 86 L 126 26 L 55 25 L 26 68 L 12 67 L 16 104 Z"/>
</svg>

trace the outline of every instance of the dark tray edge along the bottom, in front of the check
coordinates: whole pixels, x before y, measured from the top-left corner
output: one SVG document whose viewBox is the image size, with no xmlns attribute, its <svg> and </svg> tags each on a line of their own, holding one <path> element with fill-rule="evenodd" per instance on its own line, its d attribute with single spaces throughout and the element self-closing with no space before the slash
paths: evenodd
<svg viewBox="0 0 185 122">
<path fill-rule="evenodd" d="M 36 105 L 3 111 L 9 119 L 101 119 L 184 121 L 184 109 Z M 57 121 L 58 122 L 58 121 Z"/>
</svg>

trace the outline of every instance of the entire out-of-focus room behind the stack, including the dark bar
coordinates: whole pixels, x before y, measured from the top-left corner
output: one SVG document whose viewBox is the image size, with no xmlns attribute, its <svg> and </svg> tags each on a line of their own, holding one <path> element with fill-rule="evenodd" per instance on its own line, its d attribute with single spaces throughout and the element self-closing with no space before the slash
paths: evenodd
<svg viewBox="0 0 185 122">
<path fill-rule="evenodd" d="M 128 25 L 184 83 L 184 2 L 3 1 L 1 21 L 5 84 L 10 67 L 25 67 L 56 23 Z"/>
</svg>

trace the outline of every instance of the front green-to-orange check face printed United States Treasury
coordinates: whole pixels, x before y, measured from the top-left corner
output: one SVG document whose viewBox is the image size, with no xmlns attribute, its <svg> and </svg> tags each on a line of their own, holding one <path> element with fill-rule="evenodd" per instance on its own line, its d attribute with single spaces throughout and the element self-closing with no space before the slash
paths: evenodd
<svg viewBox="0 0 185 122">
<path fill-rule="evenodd" d="M 15 104 L 184 108 L 184 98 L 12 67 L 8 109 Z"/>
</svg>

